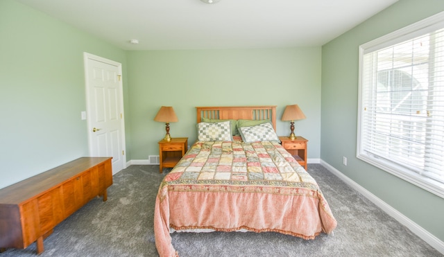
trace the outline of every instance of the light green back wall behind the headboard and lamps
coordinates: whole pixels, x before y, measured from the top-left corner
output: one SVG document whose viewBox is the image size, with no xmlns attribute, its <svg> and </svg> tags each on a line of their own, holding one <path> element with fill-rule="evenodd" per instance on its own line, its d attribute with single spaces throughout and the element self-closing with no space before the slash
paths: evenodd
<svg viewBox="0 0 444 257">
<path fill-rule="evenodd" d="M 165 124 L 153 121 L 162 105 L 173 106 L 178 123 L 171 136 L 196 141 L 197 106 L 278 105 L 278 134 L 290 134 L 280 118 L 298 104 L 305 120 L 296 134 L 309 139 L 308 158 L 320 157 L 321 47 L 196 51 L 130 51 L 132 158 L 158 155 Z"/>
</svg>

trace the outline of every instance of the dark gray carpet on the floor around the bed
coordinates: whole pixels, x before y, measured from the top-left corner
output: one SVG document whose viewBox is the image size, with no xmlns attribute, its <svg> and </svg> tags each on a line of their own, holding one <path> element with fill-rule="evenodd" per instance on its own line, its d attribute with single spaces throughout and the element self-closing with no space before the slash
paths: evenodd
<svg viewBox="0 0 444 257">
<path fill-rule="evenodd" d="M 165 169 L 164 171 L 167 171 Z M 280 233 L 173 233 L 180 256 L 443 256 L 320 164 L 309 164 L 338 221 L 334 236 L 303 240 Z M 96 198 L 60 223 L 40 256 L 158 256 L 153 231 L 159 166 L 114 175 L 108 201 Z M 8 249 L 1 257 L 35 256 Z"/>
</svg>

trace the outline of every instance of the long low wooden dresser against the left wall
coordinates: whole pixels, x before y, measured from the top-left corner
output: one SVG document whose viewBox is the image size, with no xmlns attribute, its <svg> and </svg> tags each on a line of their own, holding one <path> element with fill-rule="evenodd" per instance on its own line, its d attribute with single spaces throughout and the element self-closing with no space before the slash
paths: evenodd
<svg viewBox="0 0 444 257">
<path fill-rule="evenodd" d="M 83 157 L 0 189 L 0 252 L 24 249 L 112 185 L 111 157 Z"/>
</svg>

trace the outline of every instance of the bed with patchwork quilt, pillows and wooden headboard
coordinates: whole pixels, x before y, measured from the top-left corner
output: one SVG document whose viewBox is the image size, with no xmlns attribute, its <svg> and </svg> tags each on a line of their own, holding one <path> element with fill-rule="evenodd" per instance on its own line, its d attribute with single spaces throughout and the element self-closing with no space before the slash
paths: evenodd
<svg viewBox="0 0 444 257">
<path fill-rule="evenodd" d="M 196 111 L 198 140 L 155 201 L 160 256 L 178 256 L 175 231 L 273 231 L 307 240 L 332 233 L 337 223 L 318 184 L 275 134 L 275 106 Z"/>
</svg>

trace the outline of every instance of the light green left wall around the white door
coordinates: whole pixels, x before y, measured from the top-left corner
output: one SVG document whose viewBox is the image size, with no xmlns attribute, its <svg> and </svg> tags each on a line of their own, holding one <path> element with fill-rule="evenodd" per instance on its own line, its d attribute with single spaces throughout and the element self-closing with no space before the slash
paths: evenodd
<svg viewBox="0 0 444 257">
<path fill-rule="evenodd" d="M 125 51 L 0 1 L 0 188 L 87 156 L 83 52 L 126 67 Z"/>
</svg>

